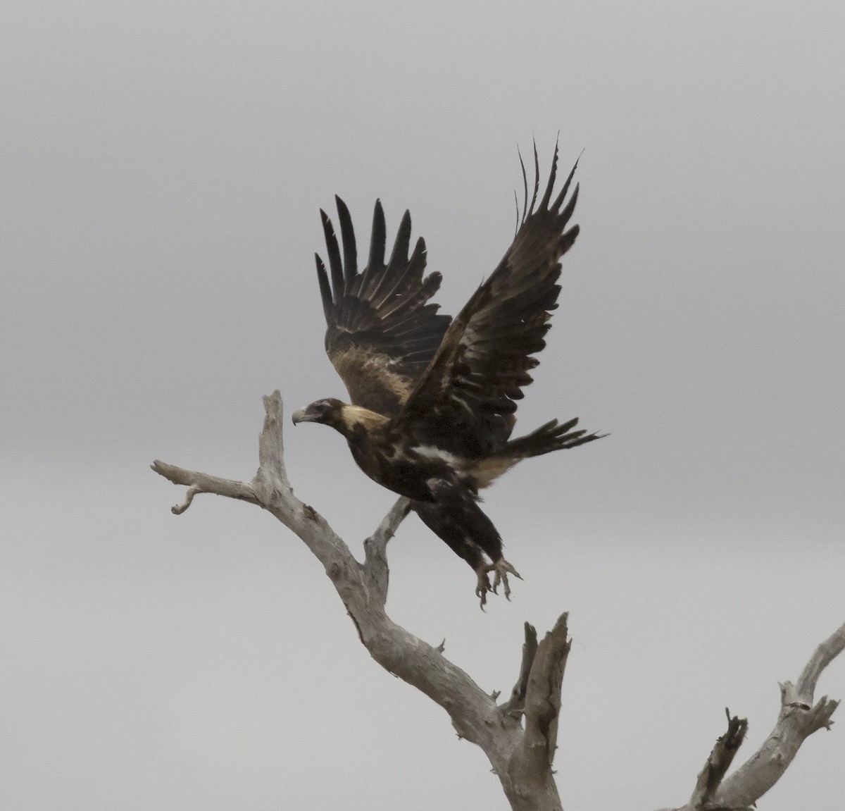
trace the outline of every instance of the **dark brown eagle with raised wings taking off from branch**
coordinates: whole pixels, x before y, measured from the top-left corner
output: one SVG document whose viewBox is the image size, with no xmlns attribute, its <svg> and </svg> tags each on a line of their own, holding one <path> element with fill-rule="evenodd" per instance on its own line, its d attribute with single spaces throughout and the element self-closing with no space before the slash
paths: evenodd
<svg viewBox="0 0 845 811">
<path fill-rule="evenodd" d="M 594 441 L 578 418 L 557 419 L 511 439 L 517 401 L 532 382 L 558 306 L 561 257 L 579 227 L 570 225 L 578 184 L 575 166 L 553 195 L 558 166 L 539 198 L 534 188 L 517 205 L 513 242 L 493 273 L 455 318 L 431 299 L 442 277 L 424 275 L 426 245 L 411 246 L 411 215 L 402 216 L 385 261 L 384 211 L 376 200 L 367 265 L 358 270 L 349 209 L 335 196 L 341 242 L 320 211 L 328 270 L 315 254 L 327 325 L 325 349 L 351 403 L 317 400 L 292 415 L 294 424 L 322 423 L 338 431 L 371 479 L 411 500 L 412 510 L 476 573 L 482 609 L 499 584 L 510 599 L 508 575 L 520 575 L 502 552 L 502 538 L 479 507 L 479 490 L 522 459 Z M 568 196 L 569 195 L 569 196 Z M 409 255 L 410 252 L 410 255 Z M 493 573 L 493 584 L 489 574 Z"/>
</svg>

